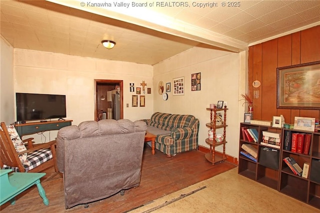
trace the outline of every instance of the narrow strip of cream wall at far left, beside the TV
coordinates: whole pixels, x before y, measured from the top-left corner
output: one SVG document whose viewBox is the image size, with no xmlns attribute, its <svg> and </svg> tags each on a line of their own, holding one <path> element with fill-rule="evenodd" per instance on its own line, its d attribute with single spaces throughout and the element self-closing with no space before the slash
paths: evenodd
<svg viewBox="0 0 320 213">
<path fill-rule="evenodd" d="M 13 47 L 0 36 L 0 121 L 14 122 Z"/>
</svg>

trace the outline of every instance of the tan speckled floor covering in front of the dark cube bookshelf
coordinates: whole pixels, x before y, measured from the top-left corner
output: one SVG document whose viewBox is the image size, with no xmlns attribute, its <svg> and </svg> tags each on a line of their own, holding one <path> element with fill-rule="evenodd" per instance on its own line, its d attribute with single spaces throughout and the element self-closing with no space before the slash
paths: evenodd
<svg viewBox="0 0 320 213">
<path fill-rule="evenodd" d="M 237 168 L 157 199 L 130 213 L 320 213 L 237 174 Z"/>
</svg>

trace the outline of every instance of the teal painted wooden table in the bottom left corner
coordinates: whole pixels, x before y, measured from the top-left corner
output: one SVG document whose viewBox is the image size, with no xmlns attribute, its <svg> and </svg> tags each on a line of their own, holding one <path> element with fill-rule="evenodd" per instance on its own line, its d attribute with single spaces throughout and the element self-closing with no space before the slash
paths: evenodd
<svg viewBox="0 0 320 213">
<path fill-rule="evenodd" d="M 15 204 L 15 196 L 19 195 L 28 188 L 36 185 L 39 195 L 45 206 L 49 205 L 49 200 L 45 196 L 43 187 L 40 184 L 40 178 L 45 173 L 11 173 L 12 170 L 0 170 L 0 206 L 10 201 Z"/>
</svg>

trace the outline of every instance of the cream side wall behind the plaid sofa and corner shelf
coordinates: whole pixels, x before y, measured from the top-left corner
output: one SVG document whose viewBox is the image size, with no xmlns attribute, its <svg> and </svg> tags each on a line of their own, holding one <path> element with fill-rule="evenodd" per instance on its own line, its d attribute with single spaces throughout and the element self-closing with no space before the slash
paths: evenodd
<svg viewBox="0 0 320 213">
<path fill-rule="evenodd" d="M 240 63 L 243 62 L 243 53 L 194 47 L 154 65 L 153 87 L 157 88 L 160 80 L 164 84 L 171 82 L 171 92 L 168 93 L 167 101 L 162 100 L 158 93 L 154 93 L 154 112 L 194 115 L 200 121 L 198 144 L 209 147 L 205 143 L 208 137 L 205 124 L 210 122 L 210 112 L 206 108 L 210 103 L 227 101 L 226 153 L 237 157 L 239 122 L 243 121 L 244 112 L 239 113 L 239 74 Z M 245 68 L 241 66 L 241 69 Z M 198 72 L 201 73 L 201 90 L 191 91 L 191 74 Z M 184 76 L 185 82 L 184 95 L 173 96 L 173 78 L 181 76 Z M 242 114 L 242 117 L 239 114 Z M 216 150 L 222 151 L 222 147 Z"/>
</svg>

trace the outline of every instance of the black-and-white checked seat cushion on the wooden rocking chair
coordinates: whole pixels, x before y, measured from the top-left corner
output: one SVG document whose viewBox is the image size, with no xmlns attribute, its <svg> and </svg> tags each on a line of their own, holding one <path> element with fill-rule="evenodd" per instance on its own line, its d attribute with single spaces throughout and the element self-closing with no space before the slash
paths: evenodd
<svg viewBox="0 0 320 213">
<path fill-rule="evenodd" d="M 25 172 L 39 166 L 40 164 L 52 159 L 52 153 L 48 149 L 39 149 L 38 151 L 34 151 L 28 153 L 27 160 L 30 162 L 30 166 L 23 165 L 25 168 Z M 8 167 L 3 165 L 2 169 L 12 169 L 14 172 L 19 172 L 17 167 Z"/>
</svg>

